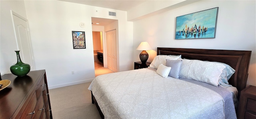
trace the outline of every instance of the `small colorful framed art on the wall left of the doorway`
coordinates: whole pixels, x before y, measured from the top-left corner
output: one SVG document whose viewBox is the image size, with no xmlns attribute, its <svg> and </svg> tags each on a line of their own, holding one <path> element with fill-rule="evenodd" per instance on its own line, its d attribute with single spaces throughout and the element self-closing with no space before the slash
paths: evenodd
<svg viewBox="0 0 256 119">
<path fill-rule="evenodd" d="M 72 31 L 73 49 L 85 49 L 84 31 Z"/>
</svg>

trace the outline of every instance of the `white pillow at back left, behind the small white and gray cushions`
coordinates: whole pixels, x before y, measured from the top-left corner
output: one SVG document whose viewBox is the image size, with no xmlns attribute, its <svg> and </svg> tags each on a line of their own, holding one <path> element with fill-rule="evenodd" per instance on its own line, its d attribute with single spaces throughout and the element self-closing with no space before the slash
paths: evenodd
<svg viewBox="0 0 256 119">
<path fill-rule="evenodd" d="M 177 60 L 179 58 L 181 58 L 181 55 L 157 55 L 156 57 L 154 57 L 149 67 L 157 69 L 160 64 L 166 64 L 166 59 Z"/>
</svg>

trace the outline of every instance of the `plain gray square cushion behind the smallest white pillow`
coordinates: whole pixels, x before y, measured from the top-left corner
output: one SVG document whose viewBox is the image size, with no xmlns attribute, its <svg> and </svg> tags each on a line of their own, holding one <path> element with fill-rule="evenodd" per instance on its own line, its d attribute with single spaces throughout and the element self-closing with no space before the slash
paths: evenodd
<svg viewBox="0 0 256 119">
<path fill-rule="evenodd" d="M 182 60 L 166 59 L 166 66 L 172 67 L 168 76 L 171 76 L 173 78 L 179 78 L 181 64 Z"/>
</svg>

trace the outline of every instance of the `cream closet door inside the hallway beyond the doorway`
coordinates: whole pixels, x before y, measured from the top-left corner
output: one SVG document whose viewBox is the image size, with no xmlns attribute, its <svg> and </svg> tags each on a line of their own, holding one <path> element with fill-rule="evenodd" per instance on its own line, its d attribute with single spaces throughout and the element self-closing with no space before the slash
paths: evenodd
<svg viewBox="0 0 256 119">
<path fill-rule="evenodd" d="M 117 72 L 116 30 L 106 32 L 107 68 Z"/>
</svg>

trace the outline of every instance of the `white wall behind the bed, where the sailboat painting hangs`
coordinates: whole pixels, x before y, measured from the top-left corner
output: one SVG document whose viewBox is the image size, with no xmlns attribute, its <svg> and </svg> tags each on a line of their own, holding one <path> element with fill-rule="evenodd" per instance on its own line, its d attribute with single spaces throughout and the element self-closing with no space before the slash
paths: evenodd
<svg viewBox="0 0 256 119">
<path fill-rule="evenodd" d="M 134 61 L 139 61 L 136 48 L 148 41 L 151 62 L 157 47 L 227 49 L 252 51 L 248 85 L 256 86 L 256 3 L 254 0 L 202 0 L 162 14 L 134 21 Z M 219 7 L 216 38 L 175 40 L 176 17 Z M 142 8 L 143 9 L 143 8 Z"/>
</svg>

